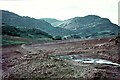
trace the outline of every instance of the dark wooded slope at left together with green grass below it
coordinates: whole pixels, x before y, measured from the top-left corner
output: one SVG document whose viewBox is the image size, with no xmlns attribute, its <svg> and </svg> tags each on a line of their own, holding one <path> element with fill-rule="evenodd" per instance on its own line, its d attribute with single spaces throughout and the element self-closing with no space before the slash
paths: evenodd
<svg viewBox="0 0 120 80">
<path fill-rule="evenodd" d="M 2 23 L 2 44 L 16 45 L 45 42 L 52 40 L 53 37 L 46 32 L 35 28 L 18 28 Z"/>
</svg>

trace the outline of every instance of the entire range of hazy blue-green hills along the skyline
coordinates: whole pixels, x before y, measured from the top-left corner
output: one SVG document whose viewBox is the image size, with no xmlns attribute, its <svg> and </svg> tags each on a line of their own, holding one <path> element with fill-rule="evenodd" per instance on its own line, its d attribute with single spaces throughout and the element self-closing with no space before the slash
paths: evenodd
<svg viewBox="0 0 120 80">
<path fill-rule="evenodd" d="M 120 33 L 118 25 L 97 15 L 74 17 L 60 21 L 52 18 L 35 19 L 19 16 L 2 10 L 2 22 L 16 28 L 39 29 L 49 35 L 65 38 L 96 38 L 114 36 Z"/>
</svg>

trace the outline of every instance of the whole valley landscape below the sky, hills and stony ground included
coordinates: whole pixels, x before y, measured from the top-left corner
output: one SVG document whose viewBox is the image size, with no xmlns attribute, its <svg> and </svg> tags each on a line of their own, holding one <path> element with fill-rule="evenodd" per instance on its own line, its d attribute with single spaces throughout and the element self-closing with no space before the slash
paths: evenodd
<svg viewBox="0 0 120 80">
<path fill-rule="evenodd" d="M 3 80 L 120 80 L 120 26 L 109 19 L 61 21 L 1 11 Z"/>
</svg>

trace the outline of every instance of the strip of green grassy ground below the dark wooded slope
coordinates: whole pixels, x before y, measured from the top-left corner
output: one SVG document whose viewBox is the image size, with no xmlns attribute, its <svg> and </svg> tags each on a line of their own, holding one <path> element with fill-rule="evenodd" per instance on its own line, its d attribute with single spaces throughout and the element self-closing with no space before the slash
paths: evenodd
<svg viewBox="0 0 120 80">
<path fill-rule="evenodd" d="M 9 45 L 21 45 L 21 44 L 32 44 L 32 43 L 46 43 L 51 42 L 50 38 L 24 38 L 17 36 L 2 35 L 2 44 L 3 46 Z"/>
</svg>

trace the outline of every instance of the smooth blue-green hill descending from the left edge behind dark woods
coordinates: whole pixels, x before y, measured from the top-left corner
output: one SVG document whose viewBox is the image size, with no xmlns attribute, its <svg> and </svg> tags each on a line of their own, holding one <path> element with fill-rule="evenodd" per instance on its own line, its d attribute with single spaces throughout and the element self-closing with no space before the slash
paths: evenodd
<svg viewBox="0 0 120 80">
<path fill-rule="evenodd" d="M 38 20 L 27 16 L 19 16 L 15 13 L 2 10 L 2 22 L 18 28 L 40 29 L 52 36 L 65 36 L 74 33 L 63 28 L 55 28 L 44 20 Z"/>
</svg>

